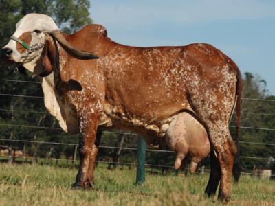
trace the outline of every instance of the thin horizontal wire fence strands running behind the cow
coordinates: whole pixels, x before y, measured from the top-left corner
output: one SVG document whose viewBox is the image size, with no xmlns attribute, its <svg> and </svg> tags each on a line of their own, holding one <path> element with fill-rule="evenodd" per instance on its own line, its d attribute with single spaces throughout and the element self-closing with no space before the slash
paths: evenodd
<svg viewBox="0 0 275 206">
<path fill-rule="evenodd" d="M 28 84 L 41 84 L 40 82 L 34 82 L 34 81 L 23 81 L 23 80 L 9 80 L 9 79 L 1 79 L 1 81 L 5 82 L 20 82 L 20 83 L 28 83 Z M 43 100 L 43 96 L 37 96 L 37 95 L 21 95 L 21 94 L 8 94 L 8 93 L 0 93 L 0 96 L 2 97 L 13 97 L 13 98 L 32 98 L 32 99 L 38 99 Z M 265 99 L 257 99 L 257 98 L 242 98 L 244 101 L 258 101 L 258 102 L 274 102 L 275 100 L 265 100 Z M 8 113 L 37 113 L 37 114 L 45 114 L 48 115 L 47 111 L 29 111 L 29 110 L 14 110 L 14 109 L 6 109 L 6 108 L 0 108 L 0 111 L 2 112 L 8 112 Z M 254 113 L 254 112 L 242 112 L 243 114 L 248 115 L 265 115 L 265 116 L 275 116 L 273 113 Z M 0 127 L 12 127 L 12 128 L 26 128 L 26 129 L 42 129 L 42 130 L 56 130 L 56 131 L 62 131 L 61 128 L 55 128 L 55 127 L 47 127 L 47 126 L 35 126 L 35 125 L 24 125 L 24 124 L 0 124 Z M 235 128 L 236 126 L 230 126 L 231 128 Z M 263 131 L 271 131 L 274 132 L 275 128 L 263 128 L 263 127 L 251 127 L 251 126 L 241 126 L 242 129 L 245 130 L 263 130 Z M 135 133 L 126 133 L 126 132 L 114 132 L 114 131 L 103 131 L 104 133 L 115 133 L 119 135 L 133 135 L 137 136 Z M 72 143 L 61 143 L 61 142 L 52 142 L 52 141 L 30 141 L 30 140 L 23 140 L 23 139 L 5 139 L 1 138 L 0 141 L 12 141 L 12 142 L 21 142 L 25 144 L 52 144 L 52 145 L 63 145 L 63 146 L 74 146 L 77 147 L 78 144 L 72 144 Z M 271 146 L 274 147 L 275 144 L 272 143 L 263 143 L 263 142 L 254 142 L 254 141 L 240 141 L 241 147 L 257 147 L 261 148 L 264 146 Z M 129 147 L 121 147 L 121 146 L 100 146 L 100 148 L 104 149 L 115 149 L 115 150 L 133 150 L 136 151 L 137 148 L 129 148 Z M 76 150 L 75 150 L 76 151 Z M 173 153 L 173 151 L 170 150 L 155 150 L 155 149 L 147 149 L 147 152 L 168 152 Z M 0 157 L 7 157 L 7 158 L 18 158 L 18 156 L 12 156 L 12 155 L 0 155 Z M 30 157 L 21 157 L 28 159 Z M 47 159 L 51 161 L 68 161 L 68 159 L 56 159 L 56 158 L 43 158 L 39 157 L 39 159 Z M 263 161 L 270 161 L 270 157 L 252 157 L 252 156 L 241 156 L 241 159 L 254 159 L 254 160 L 263 160 Z M 74 159 L 74 161 L 77 161 Z M 127 162 L 113 162 L 113 161 L 97 161 L 98 163 L 108 163 L 108 164 L 118 164 L 118 165 L 135 165 L 135 163 L 127 163 Z M 155 167 L 155 168 L 173 168 L 170 165 L 154 165 L 154 164 L 146 164 L 147 167 Z M 207 171 L 207 170 L 206 170 Z M 256 175 L 254 173 L 250 172 L 242 172 L 243 174 L 252 174 Z M 274 176 L 274 175 L 272 175 Z"/>
</svg>

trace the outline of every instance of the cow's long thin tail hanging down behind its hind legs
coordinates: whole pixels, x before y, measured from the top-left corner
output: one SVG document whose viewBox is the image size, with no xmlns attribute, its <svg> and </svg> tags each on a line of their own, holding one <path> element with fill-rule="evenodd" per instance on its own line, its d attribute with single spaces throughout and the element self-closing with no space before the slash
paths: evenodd
<svg viewBox="0 0 275 206">
<path fill-rule="evenodd" d="M 241 164 L 240 164 L 240 122 L 241 122 L 241 89 L 242 89 L 242 78 L 239 67 L 234 63 L 234 67 L 237 70 L 237 82 L 236 82 L 236 155 L 233 165 L 233 176 L 234 181 L 237 183 L 241 176 Z"/>
</svg>

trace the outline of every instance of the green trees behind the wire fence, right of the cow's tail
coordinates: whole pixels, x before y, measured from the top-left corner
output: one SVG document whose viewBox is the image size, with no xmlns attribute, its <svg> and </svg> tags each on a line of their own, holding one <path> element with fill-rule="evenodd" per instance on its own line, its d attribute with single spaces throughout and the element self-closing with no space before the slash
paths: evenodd
<svg viewBox="0 0 275 206">
<path fill-rule="evenodd" d="M 275 128 L 275 102 L 263 101 L 274 100 L 266 89 L 265 80 L 258 75 L 245 73 L 243 79 L 243 100 L 241 105 L 241 141 L 257 142 L 259 144 L 244 144 L 241 146 L 241 156 L 245 157 L 271 157 L 274 156 L 275 132 L 272 130 L 260 130 L 252 128 Z M 232 118 L 231 125 L 235 119 Z M 232 137 L 236 137 L 234 128 Z M 266 145 L 265 145 L 266 144 Z M 253 165 L 269 168 L 268 160 L 265 159 L 241 159 L 243 170 L 252 171 Z"/>
</svg>

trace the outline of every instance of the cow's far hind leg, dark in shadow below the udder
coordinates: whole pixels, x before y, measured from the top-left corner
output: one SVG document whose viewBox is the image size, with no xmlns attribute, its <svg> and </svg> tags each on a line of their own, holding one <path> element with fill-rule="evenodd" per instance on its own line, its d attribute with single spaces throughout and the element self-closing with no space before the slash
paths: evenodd
<svg viewBox="0 0 275 206">
<path fill-rule="evenodd" d="M 214 154 L 214 150 L 211 150 L 210 152 L 210 167 L 210 176 L 205 190 L 205 193 L 208 197 L 214 196 L 216 194 L 219 181 L 221 180 L 221 168 L 219 166 L 219 160 Z"/>
</svg>

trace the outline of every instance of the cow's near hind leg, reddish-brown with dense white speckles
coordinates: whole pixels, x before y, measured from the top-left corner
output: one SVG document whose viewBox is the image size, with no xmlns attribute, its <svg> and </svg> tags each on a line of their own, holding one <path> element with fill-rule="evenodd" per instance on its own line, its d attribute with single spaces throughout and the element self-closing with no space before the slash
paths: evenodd
<svg viewBox="0 0 275 206">
<path fill-rule="evenodd" d="M 230 88 L 229 86 L 225 88 Z M 232 87 L 235 89 L 234 87 Z M 233 93 L 233 92 L 232 92 Z M 217 159 L 221 167 L 221 181 L 219 187 L 219 198 L 221 201 L 229 201 L 231 194 L 231 176 L 236 154 L 236 146 L 229 130 L 230 115 L 234 108 L 234 95 L 230 91 L 223 93 L 210 93 L 208 96 L 197 95 L 190 97 L 190 103 L 195 111 L 195 115 L 201 120 L 203 126 L 208 131 L 208 137 L 217 154 Z M 214 166 L 214 173 L 217 168 Z M 212 175 L 214 175 L 212 173 Z M 210 177 L 214 181 L 213 186 L 208 186 L 206 191 L 213 194 L 217 185 L 216 177 Z"/>
</svg>

